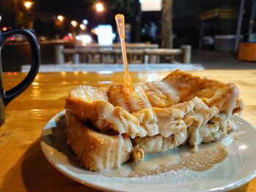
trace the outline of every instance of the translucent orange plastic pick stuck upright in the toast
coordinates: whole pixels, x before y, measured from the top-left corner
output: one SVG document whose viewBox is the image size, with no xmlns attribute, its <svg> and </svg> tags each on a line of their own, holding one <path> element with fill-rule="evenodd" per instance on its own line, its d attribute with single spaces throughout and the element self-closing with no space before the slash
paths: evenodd
<svg viewBox="0 0 256 192">
<path fill-rule="evenodd" d="M 123 55 L 123 61 L 124 61 L 124 88 L 125 90 L 132 93 L 132 79 L 129 76 L 129 67 L 128 67 L 128 61 L 127 61 L 127 49 L 125 45 L 125 31 L 124 31 L 124 15 L 117 14 L 115 16 L 116 19 L 116 26 L 118 29 L 118 34 L 121 41 L 121 51 Z"/>
</svg>

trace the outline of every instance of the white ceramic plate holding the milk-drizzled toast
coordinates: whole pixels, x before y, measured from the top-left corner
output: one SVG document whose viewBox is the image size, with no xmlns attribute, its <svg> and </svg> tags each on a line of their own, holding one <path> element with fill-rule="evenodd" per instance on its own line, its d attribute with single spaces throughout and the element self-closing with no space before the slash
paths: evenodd
<svg viewBox="0 0 256 192">
<path fill-rule="evenodd" d="M 238 141 L 238 153 L 206 172 L 173 172 L 168 176 L 105 177 L 80 166 L 66 144 L 64 111 L 48 121 L 42 130 L 41 147 L 45 157 L 61 173 L 83 185 L 104 191 L 227 191 L 256 176 L 256 129 L 238 116 L 234 122 L 245 131 Z"/>
</svg>

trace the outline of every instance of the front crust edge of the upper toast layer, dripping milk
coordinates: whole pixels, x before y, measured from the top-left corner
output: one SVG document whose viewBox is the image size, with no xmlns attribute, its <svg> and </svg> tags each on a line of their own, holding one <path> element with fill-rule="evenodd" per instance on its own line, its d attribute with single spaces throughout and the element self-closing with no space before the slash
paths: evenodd
<svg viewBox="0 0 256 192">
<path fill-rule="evenodd" d="M 85 87 L 80 87 L 86 89 Z M 106 101 L 91 101 L 69 96 L 66 110 L 81 118 L 89 119 L 96 128 L 105 132 L 113 130 L 135 137 L 153 137 L 161 134 L 169 137 L 188 126 L 205 124 L 218 114 L 217 107 L 208 107 L 202 99 L 195 97 L 190 101 L 167 108 L 148 107 L 129 113 L 121 107 L 113 107 Z"/>
</svg>

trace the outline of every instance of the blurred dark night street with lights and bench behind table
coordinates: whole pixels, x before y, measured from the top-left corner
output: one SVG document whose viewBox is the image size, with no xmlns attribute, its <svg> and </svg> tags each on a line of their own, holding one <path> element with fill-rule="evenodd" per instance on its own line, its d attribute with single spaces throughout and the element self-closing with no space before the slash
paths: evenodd
<svg viewBox="0 0 256 192">
<path fill-rule="evenodd" d="M 118 64 L 117 13 L 125 15 L 131 64 L 256 68 L 255 0 L 1 0 L 0 29 L 28 28 L 49 71 Z M 25 72 L 26 39 L 10 37 L 2 60 L 4 72 Z"/>
</svg>

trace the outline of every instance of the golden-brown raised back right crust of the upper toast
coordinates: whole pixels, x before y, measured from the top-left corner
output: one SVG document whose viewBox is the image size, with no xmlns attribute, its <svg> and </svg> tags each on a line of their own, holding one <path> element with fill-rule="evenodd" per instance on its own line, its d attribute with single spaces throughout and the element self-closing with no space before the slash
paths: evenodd
<svg viewBox="0 0 256 192">
<path fill-rule="evenodd" d="M 208 106 L 215 106 L 219 112 L 226 112 L 230 97 L 236 100 L 236 108 L 232 109 L 233 113 L 244 109 L 243 101 L 238 98 L 239 90 L 234 83 L 224 83 L 218 80 L 201 78 L 176 70 L 165 77 L 162 82 L 167 82 L 177 90 L 180 102 L 189 101 L 190 99 L 199 98 L 209 99 Z"/>
</svg>

